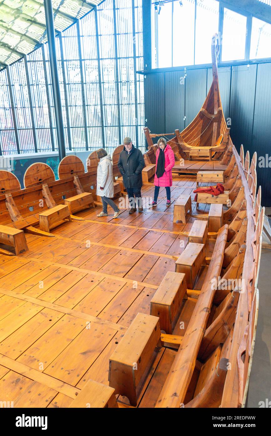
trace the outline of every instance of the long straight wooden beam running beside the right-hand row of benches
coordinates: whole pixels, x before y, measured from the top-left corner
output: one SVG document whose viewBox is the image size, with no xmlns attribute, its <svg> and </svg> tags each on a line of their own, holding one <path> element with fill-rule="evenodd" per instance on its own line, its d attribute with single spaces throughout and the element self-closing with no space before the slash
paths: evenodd
<svg viewBox="0 0 271 436">
<path fill-rule="evenodd" d="M 218 232 L 201 293 L 155 407 L 179 408 L 181 404 L 184 404 L 216 292 L 212 280 L 218 279 L 221 273 L 227 234 L 228 225 L 226 224 Z"/>
</svg>

